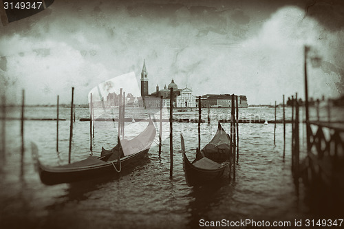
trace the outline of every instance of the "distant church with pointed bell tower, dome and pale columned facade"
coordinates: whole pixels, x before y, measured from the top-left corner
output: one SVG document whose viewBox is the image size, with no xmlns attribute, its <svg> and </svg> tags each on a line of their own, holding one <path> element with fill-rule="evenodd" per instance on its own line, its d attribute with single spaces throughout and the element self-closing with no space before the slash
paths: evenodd
<svg viewBox="0 0 344 229">
<path fill-rule="evenodd" d="M 142 72 L 141 72 L 141 97 L 140 107 L 146 108 L 160 108 L 160 100 L 162 99 L 162 107 L 170 107 L 171 100 L 171 88 L 173 88 L 173 98 L 172 105 L 176 108 L 188 108 L 196 107 L 196 97 L 193 96 L 192 90 L 188 87 L 178 88 L 174 80 L 164 89 L 159 89 L 159 85 L 156 85 L 155 91 L 149 94 L 148 87 L 148 73 L 146 64 L 143 62 Z"/>
</svg>

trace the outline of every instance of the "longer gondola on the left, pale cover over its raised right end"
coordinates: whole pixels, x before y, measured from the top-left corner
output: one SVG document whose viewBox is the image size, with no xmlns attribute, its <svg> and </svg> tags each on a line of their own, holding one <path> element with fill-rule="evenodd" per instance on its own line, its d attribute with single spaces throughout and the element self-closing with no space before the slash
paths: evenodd
<svg viewBox="0 0 344 229">
<path fill-rule="evenodd" d="M 118 144 L 110 151 L 102 148 L 100 157 L 92 155 L 85 160 L 62 166 L 45 166 L 41 164 L 37 146 L 34 143 L 32 143 L 32 155 L 36 161 L 43 184 L 78 182 L 97 176 L 120 173 L 120 171 L 129 167 L 129 164 L 133 164 L 147 155 L 155 134 L 155 126 L 150 119 L 148 126 L 142 133 L 131 140 L 118 139 Z"/>
</svg>

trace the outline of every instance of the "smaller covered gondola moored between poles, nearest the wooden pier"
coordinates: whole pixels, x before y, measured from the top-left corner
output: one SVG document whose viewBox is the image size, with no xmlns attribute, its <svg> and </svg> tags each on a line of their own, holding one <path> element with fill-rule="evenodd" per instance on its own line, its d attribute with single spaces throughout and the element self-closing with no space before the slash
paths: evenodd
<svg viewBox="0 0 344 229">
<path fill-rule="evenodd" d="M 219 129 L 222 131 L 219 131 Z M 223 136 L 226 138 L 222 138 Z M 233 156 L 231 156 L 231 153 L 228 151 L 230 151 L 231 141 L 228 134 L 226 134 L 226 131 L 222 129 L 220 124 L 213 140 L 211 140 L 211 142 L 209 142 L 204 149 L 202 149 L 202 151 L 200 151 L 198 148 L 196 149 L 196 159 L 193 160 L 193 162 L 190 162 L 186 157 L 184 137 L 182 134 L 180 135 L 180 138 L 183 154 L 183 169 L 185 173 L 186 184 L 188 184 L 188 186 L 202 186 L 210 182 L 215 182 L 224 175 L 226 168 L 229 168 L 230 172 L 230 162 L 232 161 Z M 215 148 L 213 148 L 213 146 Z M 224 155 L 219 156 L 219 159 L 224 159 L 228 154 L 227 160 L 218 163 L 205 156 L 214 153 L 216 146 L 221 147 L 222 152 L 219 153 L 224 153 Z M 226 148 L 228 149 L 227 151 L 224 150 Z M 211 151 L 207 151 L 208 149 L 211 149 Z"/>
</svg>

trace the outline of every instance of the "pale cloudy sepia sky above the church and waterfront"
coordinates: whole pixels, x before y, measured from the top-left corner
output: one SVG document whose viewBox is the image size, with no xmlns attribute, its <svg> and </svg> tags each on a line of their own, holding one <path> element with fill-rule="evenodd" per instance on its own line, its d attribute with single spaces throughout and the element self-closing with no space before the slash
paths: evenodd
<svg viewBox="0 0 344 229">
<path fill-rule="evenodd" d="M 76 103 L 145 59 L 149 92 L 171 83 L 203 94 L 246 95 L 249 105 L 303 98 L 303 46 L 310 96 L 344 93 L 344 4 L 340 0 L 55 1 L 0 25 L 0 89 L 8 102 Z M 314 51 L 314 52 L 313 52 Z"/>
</svg>

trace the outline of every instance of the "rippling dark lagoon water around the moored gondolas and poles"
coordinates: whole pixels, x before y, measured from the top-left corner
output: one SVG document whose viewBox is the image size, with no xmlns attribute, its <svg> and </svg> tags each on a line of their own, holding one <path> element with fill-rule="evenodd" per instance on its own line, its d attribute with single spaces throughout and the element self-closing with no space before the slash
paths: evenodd
<svg viewBox="0 0 344 229">
<path fill-rule="evenodd" d="M 277 119 L 282 118 L 277 109 Z M 290 167 L 291 125 L 286 124 L 286 159 L 283 162 L 283 124 L 277 124 L 274 144 L 274 124 L 239 124 L 239 164 L 237 177 L 224 177 L 213 186 L 186 186 L 180 152 L 180 133 L 186 140 L 189 158 L 195 157 L 196 123 L 173 124 L 173 179 L 169 179 L 169 122 L 163 123 L 162 154 L 153 143 L 148 157 L 130 171 L 87 182 L 45 186 L 34 169 L 30 144 L 39 147 L 44 164 L 67 164 L 69 146 L 69 109 L 60 109 L 59 153 L 56 153 L 56 121 L 25 121 L 24 175 L 20 176 L 20 121 L 6 120 L 6 158 L 1 160 L 0 227 L 1 228 L 199 228 L 200 220 L 229 221 L 291 221 L 312 219 L 303 186 L 294 186 Z M 98 113 L 97 113 L 98 112 Z M 97 110 L 97 116 L 102 116 Z M 111 113 L 108 112 L 108 113 Z M 149 113 L 158 113 L 150 110 Z M 206 120 L 206 109 L 202 111 Z M 201 125 L 202 146 L 213 138 L 217 120 L 229 118 L 228 109 L 211 109 L 211 123 Z M 312 111 L 314 114 L 314 111 Z M 332 116 L 337 112 L 332 112 Z M 116 112 L 115 114 L 116 115 Z M 19 118 L 19 109 L 10 109 L 6 116 Z M 128 118 L 147 118 L 147 113 L 135 108 L 126 110 Z M 197 118 L 197 111 L 175 113 L 175 118 Z M 27 118 L 56 118 L 55 107 L 28 107 Z M 89 151 L 89 110 L 76 109 L 72 161 L 84 159 Z M 168 118 L 164 111 L 164 118 Z M 291 109 L 286 109 L 291 117 Z M 338 115 L 338 117 L 341 117 Z M 158 118 L 158 116 L 157 116 Z M 239 118 L 274 120 L 274 108 L 239 109 Z M 325 109 L 321 118 L 326 118 Z M 147 122 L 126 122 L 127 138 L 140 133 Z M 156 123 L 157 133 L 159 124 Z M 230 124 L 223 123 L 229 133 Z M 101 147 L 111 149 L 116 144 L 117 123 L 96 122 L 93 153 Z M 305 137 L 301 128 L 300 136 Z M 3 138 L 4 136 L 2 136 Z M 156 135 L 158 140 L 158 134 Z M 157 141 L 158 142 L 158 141 Z M 305 141 L 301 140 L 304 149 Z M 304 157 L 304 156 L 302 156 Z"/>
</svg>

